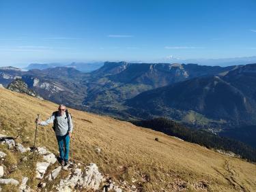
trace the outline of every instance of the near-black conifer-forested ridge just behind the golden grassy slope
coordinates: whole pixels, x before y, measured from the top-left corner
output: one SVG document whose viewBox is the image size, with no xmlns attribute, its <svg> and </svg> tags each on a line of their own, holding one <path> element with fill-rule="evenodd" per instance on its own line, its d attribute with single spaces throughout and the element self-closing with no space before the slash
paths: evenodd
<svg viewBox="0 0 256 192">
<path fill-rule="evenodd" d="M 168 118 L 154 118 L 144 121 L 132 121 L 132 124 L 139 127 L 150 128 L 155 131 L 160 131 L 162 133 L 166 133 L 167 135 L 180 138 L 186 142 L 199 144 L 207 148 L 229 151 L 239 155 L 243 159 L 256 162 L 256 149 L 242 142 L 238 142 L 239 138 L 237 135 L 243 135 L 242 132 L 247 131 L 245 128 L 243 131 L 240 130 L 240 132 L 237 133 L 236 138 L 238 140 L 232 140 L 229 138 L 220 137 L 219 135 L 211 133 L 210 131 L 205 131 L 204 129 L 191 129 L 180 123 L 171 121 Z M 253 134 L 253 129 L 251 130 L 251 134 Z M 244 138 L 244 142 L 245 140 L 246 138 Z"/>
</svg>

